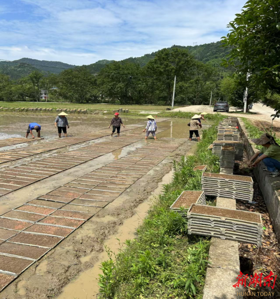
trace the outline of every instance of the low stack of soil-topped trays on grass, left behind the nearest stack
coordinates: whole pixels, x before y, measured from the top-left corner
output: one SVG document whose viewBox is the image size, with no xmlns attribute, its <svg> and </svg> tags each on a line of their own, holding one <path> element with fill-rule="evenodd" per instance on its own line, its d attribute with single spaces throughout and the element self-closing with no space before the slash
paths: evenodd
<svg viewBox="0 0 280 299">
<path fill-rule="evenodd" d="M 182 216 L 186 216 L 186 213 L 183 213 L 181 207 L 188 209 L 192 204 L 206 205 L 205 194 L 203 191 L 183 191 L 170 209 L 182 213 Z"/>
</svg>

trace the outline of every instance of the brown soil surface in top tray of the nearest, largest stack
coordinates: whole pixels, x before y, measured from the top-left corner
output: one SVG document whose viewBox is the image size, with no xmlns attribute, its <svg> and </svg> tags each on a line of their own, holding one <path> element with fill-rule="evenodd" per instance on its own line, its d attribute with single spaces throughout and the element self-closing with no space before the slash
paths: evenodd
<svg viewBox="0 0 280 299">
<path fill-rule="evenodd" d="M 254 213 L 240 211 L 240 210 L 231 210 L 231 209 L 216 208 L 212 206 L 194 205 L 192 206 L 192 210 L 189 212 L 261 223 L 260 215 L 258 213 L 254 214 Z"/>
</svg>

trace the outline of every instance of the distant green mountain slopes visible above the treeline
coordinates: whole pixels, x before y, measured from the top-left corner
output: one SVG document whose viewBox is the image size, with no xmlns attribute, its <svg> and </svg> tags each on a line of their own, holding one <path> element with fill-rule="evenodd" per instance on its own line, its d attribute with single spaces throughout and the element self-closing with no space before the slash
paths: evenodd
<svg viewBox="0 0 280 299">
<path fill-rule="evenodd" d="M 197 46 L 177 46 L 173 47 L 180 49 L 187 49 L 192 55 L 202 61 L 212 64 L 217 68 L 223 69 L 220 64 L 222 59 L 226 58 L 229 53 L 229 49 L 223 48 L 221 41 L 212 42 L 209 44 L 197 45 Z M 140 57 L 129 57 L 123 59 L 122 62 L 138 63 L 140 66 L 146 65 L 151 59 L 154 59 L 157 52 L 151 54 L 145 54 Z M 83 65 L 92 74 L 98 74 L 106 64 L 113 62 L 114 60 L 99 60 L 89 65 Z M 64 70 L 75 68 L 75 65 L 59 62 L 59 61 L 47 61 L 37 60 L 31 58 L 21 58 L 11 62 L 0 61 L 0 74 L 9 75 L 12 79 L 16 80 L 23 76 L 29 75 L 35 70 L 39 70 L 44 74 L 53 73 L 59 74 Z"/>
</svg>

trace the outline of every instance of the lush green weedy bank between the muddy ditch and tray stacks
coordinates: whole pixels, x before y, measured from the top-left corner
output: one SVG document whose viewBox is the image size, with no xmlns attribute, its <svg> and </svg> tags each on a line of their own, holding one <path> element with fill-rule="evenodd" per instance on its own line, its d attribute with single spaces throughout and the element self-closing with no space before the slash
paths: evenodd
<svg viewBox="0 0 280 299">
<path fill-rule="evenodd" d="M 102 299 L 202 298 L 208 264 L 207 238 L 187 235 L 187 220 L 169 209 L 183 190 L 201 189 L 201 172 L 195 165 L 208 164 L 219 172 L 219 162 L 209 145 L 216 139 L 214 125 L 203 131 L 195 156 L 183 156 L 174 163 L 171 184 L 164 186 L 137 230 L 135 240 L 120 244 L 117 255 L 107 248 L 109 259 L 102 262 L 99 286 Z"/>
</svg>

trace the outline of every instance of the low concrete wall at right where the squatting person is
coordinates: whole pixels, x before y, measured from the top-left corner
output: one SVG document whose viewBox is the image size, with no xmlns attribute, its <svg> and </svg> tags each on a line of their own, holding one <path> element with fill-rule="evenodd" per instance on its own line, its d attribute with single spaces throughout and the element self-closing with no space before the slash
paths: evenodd
<svg viewBox="0 0 280 299">
<path fill-rule="evenodd" d="M 251 158 L 258 150 L 254 148 L 254 144 L 249 139 L 243 120 L 238 118 L 237 122 L 245 150 L 248 157 Z M 261 162 L 254 168 L 254 175 L 262 190 L 265 205 L 268 209 L 278 242 L 280 242 L 280 177 L 272 178 L 268 176 L 268 172 L 262 170 L 263 167 L 264 165 Z"/>
</svg>

